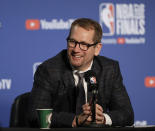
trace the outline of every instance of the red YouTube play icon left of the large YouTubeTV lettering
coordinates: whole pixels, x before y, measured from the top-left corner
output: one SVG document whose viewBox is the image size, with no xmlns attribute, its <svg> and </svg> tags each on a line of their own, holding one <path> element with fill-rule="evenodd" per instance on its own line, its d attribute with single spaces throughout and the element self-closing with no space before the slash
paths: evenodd
<svg viewBox="0 0 155 131">
<path fill-rule="evenodd" d="M 40 21 L 38 19 L 28 19 L 25 22 L 25 27 L 27 30 L 39 30 Z"/>
</svg>

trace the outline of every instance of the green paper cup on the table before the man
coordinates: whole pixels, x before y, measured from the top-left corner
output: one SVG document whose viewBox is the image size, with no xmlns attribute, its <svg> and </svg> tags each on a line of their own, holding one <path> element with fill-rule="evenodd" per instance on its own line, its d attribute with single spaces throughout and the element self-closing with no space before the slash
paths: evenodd
<svg viewBox="0 0 155 131">
<path fill-rule="evenodd" d="M 39 124 L 41 129 L 49 129 L 50 128 L 50 114 L 53 109 L 36 109 L 39 116 Z"/>
</svg>

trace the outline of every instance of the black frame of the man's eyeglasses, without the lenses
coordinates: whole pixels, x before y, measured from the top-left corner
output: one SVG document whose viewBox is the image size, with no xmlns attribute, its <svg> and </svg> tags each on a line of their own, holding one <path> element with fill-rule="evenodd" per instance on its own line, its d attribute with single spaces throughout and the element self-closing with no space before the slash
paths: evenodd
<svg viewBox="0 0 155 131">
<path fill-rule="evenodd" d="M 94 44 L 88 44 L 88 43 L 84 43 L 84 42 L 78 42 L 78 41 L 76 41 L 76 40 L 74 40 L 74 39 L 70 39 L 70 38 L 67 38 L 66 40 L 67 40 L 68 46 L 69 46 L 69 42 L 75 43 L 75 44 L 74 44 L 74 47 L 72 47 L 72 46 L 69 46 L 69 47 L 75 48 L 76 45 L 79 44 L 80 49 L 83 50 L 83 51 L 87 51 L 87 50 L 89 49 L 89 47 L 95 46 L 95 45 L 98 44 L 98 42 L 96 42 L 96 43 L 94 43 Z M 80 45 L 85 45 L 85 46 L 87 47 L 87 49 L 86 49 L 86 50 L 82 49 Z"/>
</svg>

